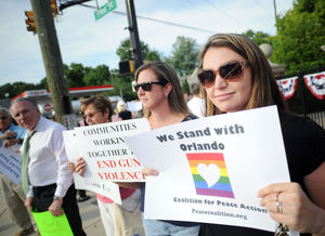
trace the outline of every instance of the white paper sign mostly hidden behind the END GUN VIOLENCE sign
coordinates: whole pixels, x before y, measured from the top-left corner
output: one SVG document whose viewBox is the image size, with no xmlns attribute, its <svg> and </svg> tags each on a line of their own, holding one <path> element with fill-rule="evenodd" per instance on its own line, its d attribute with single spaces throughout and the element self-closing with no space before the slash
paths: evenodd
<svg viewBox="0 0 325 236">
<path fill-rule="evenodd" d="M 63 139 L 65 143 L 65 149 L 67 158 L 72 162 L 76 162 L 81 157 L 80 148 L 78 148 L 78 142 L 76 139 L 76 132 L 74 130 L 63 131 Z M 82 178 L 76 171 L 74 172 L 75 187 L 76 189 L 87 189 L 105 197 L 110 198 L 114 202 L 121 205 L 121 198 L 119 193 L 119 186 L 113 182 L 98 183 L 91 178 Z"/>
</svg>

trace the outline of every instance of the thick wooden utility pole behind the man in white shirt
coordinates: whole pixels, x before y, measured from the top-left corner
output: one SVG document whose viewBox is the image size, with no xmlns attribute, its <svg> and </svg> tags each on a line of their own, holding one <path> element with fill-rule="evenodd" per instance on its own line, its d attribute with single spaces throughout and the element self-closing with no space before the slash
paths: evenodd
<svg viewBox="0 0 325 236">
<path fill-rule="evenodd" d="M 30 3 L 47 71 L 47 81 L 55 110 L 55 118 L 58 122 L 63 123 L 63 115 L 73 113 L 73 107 L 69 100 L 67 80 L 64 76 L 50 0 L 30 0 Z"/>
</svg>

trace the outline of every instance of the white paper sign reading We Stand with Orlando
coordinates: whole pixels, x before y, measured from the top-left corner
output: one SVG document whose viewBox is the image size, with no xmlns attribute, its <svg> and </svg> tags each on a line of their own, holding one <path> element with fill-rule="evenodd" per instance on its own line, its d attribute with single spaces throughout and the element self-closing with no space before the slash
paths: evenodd
<svg viewBox="0 0 325 236">
<path fill-rule="evenodd" d="M 275 106 L 218 115 L 126 137 L 146 180 L 144 218 L 275 230 L 257 193 L 289 182 Z"/>
</svg>

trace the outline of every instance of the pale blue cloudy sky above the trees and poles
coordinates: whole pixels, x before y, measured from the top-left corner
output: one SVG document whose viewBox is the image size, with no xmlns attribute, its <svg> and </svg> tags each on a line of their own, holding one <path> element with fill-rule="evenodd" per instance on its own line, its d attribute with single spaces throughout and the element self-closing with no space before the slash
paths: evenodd
<svg viewBox="0 0 325 236">
<path fill-rule="evenodd" d="M 101 6 L 107 0 L 98 0 Z M 118 12 L 126 12 L 126 1 L 116 0 Z M 277 14 L 292 9 L 294 0 L 277 0 Z M 95 1 L 86 4 L 96 6 Z M 172 52 L 178 36 L 202 45 L 217 32 L 245 32 L 248 29 L 275 35 L 273 0 L 134 0 L 140 40 L 164 56 Z M 26 29 L 24 11 L 28 0 L 0 1 L 0 86 L 17 81 L 39 83 L 46 77 L 38 36 Z M 99 21 L 93 8 L 74 5 L 55 19 L 56 35 L 64 64 L 80 63 L 118 68 L 116 54 L 120 42 L 130 37 L 127 15 L 110 12 Z M 188 27 L 161 24 L 157 21 Z M 200 30 L 199 30 L 200 29 Z"/>
</svg>

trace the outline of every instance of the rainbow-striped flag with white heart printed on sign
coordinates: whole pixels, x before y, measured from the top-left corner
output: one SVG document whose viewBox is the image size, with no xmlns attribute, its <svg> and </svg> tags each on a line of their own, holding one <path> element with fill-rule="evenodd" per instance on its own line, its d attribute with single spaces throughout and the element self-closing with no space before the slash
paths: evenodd
<svg viewBox="0 0 325 236">
<path fill-rule="evenodd" d="M 222 153 L 186 154 L 196 194 L 235 198 Z"/>
</svg>

